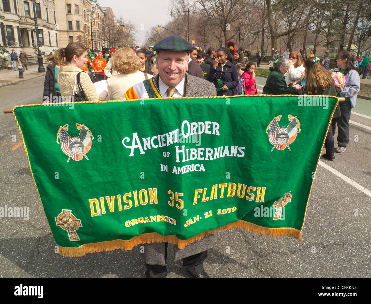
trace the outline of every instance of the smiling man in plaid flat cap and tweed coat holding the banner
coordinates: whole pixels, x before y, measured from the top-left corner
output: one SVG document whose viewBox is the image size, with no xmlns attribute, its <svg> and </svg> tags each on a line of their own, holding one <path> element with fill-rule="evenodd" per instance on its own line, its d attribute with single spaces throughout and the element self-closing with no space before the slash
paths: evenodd
<svg viewBox="0 0 371 304">
<path fill-rule="evenodd" d="M 188 53 L 191 44 L 178 36 L 162 39 L 154 46 L 158 53 L 156 68 L 158 75 L 132 86 L 125 93 L 127 99 L 161 97 L 206 97 L 216 96 L 214 85 L 204 79 L 188 75 Z M 183 258 L 183 266 L 196 278 L 209 278 L 203 261 L 207 249 L 213 246 L 214 235 L 193 242 L 183 249 L 174 245 L 175 261 Z M 144 244 L 144 261 L 147 278 L 164 278 L 167 243 Z"/>
</svg>

